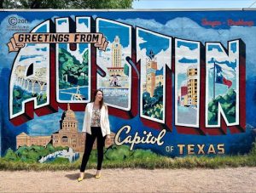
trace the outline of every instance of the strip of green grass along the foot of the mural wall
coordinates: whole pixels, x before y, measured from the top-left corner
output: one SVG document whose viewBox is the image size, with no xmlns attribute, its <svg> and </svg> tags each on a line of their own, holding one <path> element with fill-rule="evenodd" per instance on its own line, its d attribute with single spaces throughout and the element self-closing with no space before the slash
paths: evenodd
<svg viewBox="0 0 256 193">
<path fill-rule="evenodd" d="M 36 170 L 36 171 L 56 171 L 56 170 L 79 170 L 82 157 L 76 162 L 22 162 L 9 161 L 0 158 L 0 170 Z M 247 155 L 237 156 L 184 156 L 169 158 L 166 156 L 145 156 L 137 158 L 131 156 L 125 160 L 111 160 L 108 156 L 102 164 L 103 168 L 223 168 L 223 167 L 256 167 L 256 143 Z M 96 168 L 96 157 L 91 155 L 87 168 Z"/>
</svg>

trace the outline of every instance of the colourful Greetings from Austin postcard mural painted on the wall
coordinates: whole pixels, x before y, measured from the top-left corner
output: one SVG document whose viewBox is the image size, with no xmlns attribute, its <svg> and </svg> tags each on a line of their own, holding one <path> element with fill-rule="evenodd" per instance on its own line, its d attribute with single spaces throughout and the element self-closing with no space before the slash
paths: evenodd
<svg viewBox="0 0 256 193">
<path fill-rule="evenodd" d="M 0 18 L 1 156 L 79 159 L 84 109 L 96 89 L 110 114 L 109 159 L 120 149 L 170 157 L 251 149 L 255 10 L 2 11 Z"/>
</svg>

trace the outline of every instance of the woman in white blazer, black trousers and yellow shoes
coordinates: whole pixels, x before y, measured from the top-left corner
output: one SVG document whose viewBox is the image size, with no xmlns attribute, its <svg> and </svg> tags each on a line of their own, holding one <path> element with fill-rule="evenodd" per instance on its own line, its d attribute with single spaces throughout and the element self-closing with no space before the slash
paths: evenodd
<svg viewBox="0 0 256 193">
<path fill-rule="evenodd" d="M 108 107 L 104 104 L 102 90 L 96 90 L 93 102 L 86 105 L 83 131 L 86 133 L 84 156 L 80 167 L 79 182 L 84 179 L 84 170 L 90 157 L 90 151 L 97 139 L 97 172 L 96 179 L 101 178 L 103 147 L 105 139 L 110 139 Z"/>
</svg>

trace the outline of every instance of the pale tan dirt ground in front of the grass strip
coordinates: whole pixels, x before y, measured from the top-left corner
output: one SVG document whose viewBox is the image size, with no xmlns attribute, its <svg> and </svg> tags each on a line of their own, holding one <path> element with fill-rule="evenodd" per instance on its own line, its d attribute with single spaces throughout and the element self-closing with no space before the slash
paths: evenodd
<svg viewBox="0 0 256 193">
<path fill-rule="evenodd" d="M 225 169 L 105 169 L 26 172 L 0 171 L 1 192 L 256 192 L 256 167 Z"/>
</svg>

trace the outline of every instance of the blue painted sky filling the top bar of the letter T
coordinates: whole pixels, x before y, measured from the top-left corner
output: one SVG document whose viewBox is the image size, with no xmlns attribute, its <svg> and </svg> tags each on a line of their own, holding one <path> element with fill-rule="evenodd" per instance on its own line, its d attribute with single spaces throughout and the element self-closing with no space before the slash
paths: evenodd
<svg viewBox="0 0 256 193">
<path fill-rule="evenodd" d="M 149 55 L 150 50 L 152 50 L 156 55 L 156 54 L 159 54 L 161 50 L 166 51 L 166 49 L 169 48 L 170 41 L 165 37 L 160 37 L 150 32 L 141 31 L 141 30 L 138 31 L 138 36 L 142 37 L 143 40 L 145 41 L 145 43 L 140 43 L 139 47 L 141 49 L 146 48 L 147 55 Z"/>
</svg>

